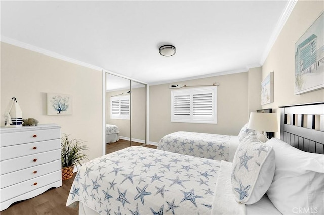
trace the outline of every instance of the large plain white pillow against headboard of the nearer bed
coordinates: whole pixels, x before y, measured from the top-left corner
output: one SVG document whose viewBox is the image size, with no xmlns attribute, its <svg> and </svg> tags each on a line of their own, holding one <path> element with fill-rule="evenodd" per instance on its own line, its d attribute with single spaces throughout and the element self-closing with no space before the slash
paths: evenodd
<svg viewBox="0 0 324 215">
<path fill-rule="evenodd" d="M 277 138 L 275 173 L 267 195 L 283 214 L 324 214 L 324 155 L 301 151 Z"/>
</svg>

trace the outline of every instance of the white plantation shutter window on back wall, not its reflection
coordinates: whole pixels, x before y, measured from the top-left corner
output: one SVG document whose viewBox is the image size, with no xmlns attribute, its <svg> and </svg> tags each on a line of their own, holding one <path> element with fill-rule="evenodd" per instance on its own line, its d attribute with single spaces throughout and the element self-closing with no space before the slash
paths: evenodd
<svg viewBox="0 0 324 215">
<path fill-rule="evenodd" d="M 171 91 L 171 122 L 217 123 L 217 86 Z"/>
</svg>

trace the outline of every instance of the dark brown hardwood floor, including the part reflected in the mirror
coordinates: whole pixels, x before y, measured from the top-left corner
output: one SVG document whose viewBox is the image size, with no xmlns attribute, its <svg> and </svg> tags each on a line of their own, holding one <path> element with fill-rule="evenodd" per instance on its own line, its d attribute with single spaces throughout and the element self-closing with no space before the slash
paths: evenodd
<svg viewBox="0 0 324 215">
<path fill-rule="evenodd" d="M 142 143 L 132 142 L 134 145 L 143 145 Z M 107 153 L 111 153 L 130 146 L 130 142 L 123 140 L 116 143 L 107 144 Z M 145 147 L 155 148 L 153 145 Z M 63 181 L 63 185 L 58 188 L 52 188 L 41 195 L 12 204 L 8 209 L 0 212 L 1 215 L 77 215 L 78 207 L 66 207 L 66 200 L 69 195 L 74 177 Z"/>
</svg>

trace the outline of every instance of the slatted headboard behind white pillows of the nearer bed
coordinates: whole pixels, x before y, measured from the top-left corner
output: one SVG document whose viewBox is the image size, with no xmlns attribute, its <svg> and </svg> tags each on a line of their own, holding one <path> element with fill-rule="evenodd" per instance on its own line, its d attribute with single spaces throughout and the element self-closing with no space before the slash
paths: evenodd
<svg viewBox="0 0 324 215">
<path fill-rule="evenodd" d="M 302 151 L 324 154 L 324 102 L 279 108 L 280 139 Z"/>
</svg>

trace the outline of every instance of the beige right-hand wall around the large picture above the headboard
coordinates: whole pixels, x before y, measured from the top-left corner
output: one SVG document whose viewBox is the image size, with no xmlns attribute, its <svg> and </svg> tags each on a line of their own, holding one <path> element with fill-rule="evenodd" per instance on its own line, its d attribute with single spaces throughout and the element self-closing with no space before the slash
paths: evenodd
<svg viewBox="0 0 324 215">
<path fill-rule="evenodd" d="M 272 71 L 274 102 L 263 108 L 324 101 L 324 89 L 294 95 L 295 42 L 324 9 L 323 1 L 298 1 L 262 67 L 263 79 Z M 279 110 L 277 111 L 279 112 Z"/>
</svg>

